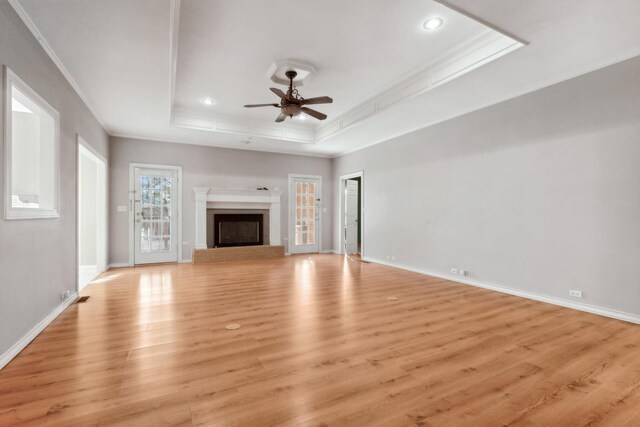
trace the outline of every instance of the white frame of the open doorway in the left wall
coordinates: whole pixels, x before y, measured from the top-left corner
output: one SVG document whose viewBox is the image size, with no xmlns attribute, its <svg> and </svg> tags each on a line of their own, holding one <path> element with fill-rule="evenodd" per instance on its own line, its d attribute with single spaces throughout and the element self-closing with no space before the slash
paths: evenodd
<svg viewBox="0 0 640 427">
<path fill-rule="evenodd" d="M 85 149 L 102 162 L 104 167 L 104 224 L 100 230 L 104 234 L 104 255 L 102 260 L 96 258 L 97 273 L 100 274 L 109 269 L 109 161 L 91 146 L 80 134 L 76 134 L 76 292 L 80 291 L 80 150 Z"/>
</svg>

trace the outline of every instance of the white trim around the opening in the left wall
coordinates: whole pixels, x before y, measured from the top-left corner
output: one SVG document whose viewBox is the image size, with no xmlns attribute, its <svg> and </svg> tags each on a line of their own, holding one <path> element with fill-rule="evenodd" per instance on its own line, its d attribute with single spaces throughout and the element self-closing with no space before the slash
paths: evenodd
<svg viewBox="0 0 640 427">
<path fill-rule="evenodd" d="M 36 93 L 9 67 L 4 67 L 4 218 L 5 219 L 43 219 L 60 217 L 60 114 L 47 101 Z M 43 110 L 49 113 L 55 121 L 53 135 L 53 209 L 42 208 L 14 208 L 11 200 L 11 167 L 12 155 L 12 91 L 11 87 L 16 86 L 22 93 L 38 104 Z"/>
</svg>

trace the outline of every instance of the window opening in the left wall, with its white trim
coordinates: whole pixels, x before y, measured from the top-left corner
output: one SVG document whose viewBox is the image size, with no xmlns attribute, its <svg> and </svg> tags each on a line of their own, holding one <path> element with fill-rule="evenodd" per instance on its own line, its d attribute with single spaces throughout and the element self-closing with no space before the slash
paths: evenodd
<svg viewBox="0 0 640 427">
<path fill-rule="evenodd" d="M 5 67 L 5 219 L 57 218 L 60 115 Z"/>
</svg>

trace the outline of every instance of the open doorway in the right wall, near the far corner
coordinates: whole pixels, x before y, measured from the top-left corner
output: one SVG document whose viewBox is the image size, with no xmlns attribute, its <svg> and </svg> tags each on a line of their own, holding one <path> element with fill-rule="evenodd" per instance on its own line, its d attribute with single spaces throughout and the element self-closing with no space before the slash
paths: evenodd
<svg viewBox="0 0 640 427">
<path fill-rule="evenodd" d="M 340 191 L 340 253 L 364 254 L 364 172 L 342 175 Z"/>
</svg>

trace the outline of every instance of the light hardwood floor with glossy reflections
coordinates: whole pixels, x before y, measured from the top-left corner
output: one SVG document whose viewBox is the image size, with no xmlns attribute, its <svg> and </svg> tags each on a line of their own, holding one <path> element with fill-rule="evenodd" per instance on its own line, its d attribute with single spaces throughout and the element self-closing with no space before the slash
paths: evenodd
<svg viewBox="0 0 640 427">
<path fill-rule="evenodd" d="M 0 371 L 0 425 L 640 426 L 640 326 L 596 315 L 337 255 L 83 294 Z"/>
</svg>

